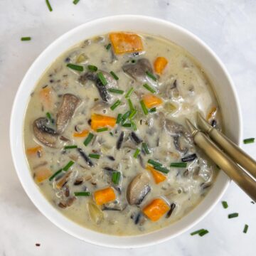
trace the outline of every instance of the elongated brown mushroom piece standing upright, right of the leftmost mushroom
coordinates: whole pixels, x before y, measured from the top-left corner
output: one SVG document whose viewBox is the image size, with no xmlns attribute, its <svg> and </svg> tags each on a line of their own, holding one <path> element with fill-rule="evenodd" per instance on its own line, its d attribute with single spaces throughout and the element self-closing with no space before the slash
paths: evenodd
<svg viewBox="0 0 256 256">
<path fill-rule="evenodd" d="M 63 95 L 63 102 L 60 105 L 57 114 L 57 132 L 58 134 L 62 134 L 67 127 L 70 118 L 73 117 L 73 114 L 78 107 L 80 100 L 75 95 L 70 93 L 66 93 Z"/>
</svg>

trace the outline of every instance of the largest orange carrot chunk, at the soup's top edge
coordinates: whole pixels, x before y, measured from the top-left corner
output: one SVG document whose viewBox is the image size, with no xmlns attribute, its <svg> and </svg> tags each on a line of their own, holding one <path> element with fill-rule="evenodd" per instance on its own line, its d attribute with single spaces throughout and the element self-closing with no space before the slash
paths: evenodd
<svg viewBox="0 0 256 256">
<path fill-rule="evenodd" d="M 142 38 L 133 33 L 110 33 L 110 41 L 116 54 L 134 53 L 143 50 Z"/>
</svg>

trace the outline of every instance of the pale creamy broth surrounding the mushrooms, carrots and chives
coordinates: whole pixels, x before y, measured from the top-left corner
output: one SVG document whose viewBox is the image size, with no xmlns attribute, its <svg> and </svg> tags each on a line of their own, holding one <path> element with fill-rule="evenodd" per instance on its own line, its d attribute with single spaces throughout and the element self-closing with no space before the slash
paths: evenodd
<svg viewBox="0 0 256 256">
<path fill-rule="evenodd" d="M 208 117 L 213 108 L 216 108 L 217 112 L 210 116 L 209 122 L 221 129 L 220 107 L 203 69 L 180 46 L 163 38 L 139 36 L 144 46 L 139 54 L 114 54 L 112 48 L 106 49 L 110 39 L 105 35 L 79 43 L 60 55 L 48 67 L 31 93 L 24 122 L 24 144 L 28 152 L 28 164 L 31 175 L 43 195 L 57 210 L 75 223 L 112 235 L 140 235 L 174 223 L 203 200 L 218 174 L 215 165 L 193 145 L 189 134 L 188 137 L 184 137 L 182 133 L 176 136 L 174 131 L 170 132 L 168 129 L 175 122 L 175 125 L 183 125 L 182 129 L 187 132 L 186 118 L 195 120 L 198 111 Z M 156 75 L 153 68 L 154 60 L 159 56 L 168 60 L 162 75 Z M 124 72 L 124 65 L 136 65 L 142 58 L 149 60 L 152 73 L 157 78 L 156 82 L 146 75 L 144 81 L 138 81 Z M 67 67 L 68 63 L 82 65 L 84 71 L 72 70 Z M 100 70 L 106 73 L 114 71 L 119 80 L 112 78 L 111 84 L 108 82 L 106 87 L 124 90 L 124 93 L 119 95 L 107 92 L 109 101 L 104 102 L 95 82 L 85 79 L 85 74 L 88 73 L 87 65 L 97 66 L 95 74 Z M 143 95 L 151 94 L 142 86 L 145 82 L 156 90 L 154 95 L 163 100 L 163 103 L 156 107 L 156 112 L 149 112 L 147 115 L 139 103 Z M 137 130 L 115 124 L 113 128 L 108 127 L 105 132 L 93 131 L 90 127 L 91 114 L 117 118 L 118 114 L 124 114 L 129 110 L 125 95 L 131 87 L 134 88 L 134 92 L 129 98 L 137 110 L 133 119 Z M 42 88 L 50 89 L 50 101 L 46 98 L 43 100 Z M 63 95 L 67 94 L 72 94 L 79 100 L 75 112 L 64 131 L 53 135 L 56 140 L 54 147 L 46 146 L 35 137 L 33 123 L 40 117 L 46 117 L 48 112 L 54 122 L 49 121 L 46 125 L 56 131 L 57 113 L 61 108 Z M 110 106 L 117 100 L 122 103 L 111 110 Z M 74 132 L 82 132 L 84 129 L 95 135 L 87 146 L 84 144 L 87 136 L 73 136 Z M 121 148 L 117 149 L 117 141 L 122 132 L 124 141 Z M 145 154 L 141 142 L 134 142 L 132 132 L 149 146 L 150 154 Z M 180 151 L 174 144 L 174 137 L 178 137 Z M 68 145 L 78 146 L 86 156 L 100 154 L 100 159 L 89 158 L 93 164 L 90 166 L 78 149 L 63 149 Z M 41 146 L 41 149 L 38 148 L 36 154 L 29 153 L 29 149 L 36 146 Z M 136 149 L 140 149 L 137 159 L 134 158 Z M 193 154 L 196 154 L 196 159 L 188 161 L 186 168 L 170 167 L 171 163 L 181 162 L 182 158 Z M 149 159 L 159 161 L 169 169 L 168 174 L 161 173 L 166 177 L 165 181 L 155 183 L 151 172 L 146 169 Z M 62 169 L 69 161 L 74 162 L 70 169 L 61 171 L 49 181 L 50 175 Z M 113 184 L 113 171 L 107 171 L 106 167 L 121 173 L 118 185 Z M 42 169 L 48 170 L 48 176 L 38 182 L 37 176 Z M 67 174 L 69 176 L 66 183 L 57 188 L 56 183 Z M 127 187 L 139 174 L 143 174 L 144 180 L 149 181 L 147 186 L 150 191 L 147 191 L 142 203 L 137 206 L 130 205 L 127 201 Z M 113 188 L 115 200 L 97 206 L 93 193 L 107 187 Z M 75 192 L 83 191 L 90 192 L 91 195 L 74 195 Z M 143 213 L 143 209 L 156 198 L 164 200 L 166 205 L 172 208 L 172 212 L 165 213 L 157 221 L 152 221 Z M 169 218 L 166 218 L 168 215 Z"/>
</svg>

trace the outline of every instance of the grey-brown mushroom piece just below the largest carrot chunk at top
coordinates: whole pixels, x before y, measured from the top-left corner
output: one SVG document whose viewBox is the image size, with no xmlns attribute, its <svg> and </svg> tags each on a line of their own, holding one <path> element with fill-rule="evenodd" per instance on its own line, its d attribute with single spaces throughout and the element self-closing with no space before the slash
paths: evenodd
<svg viewBox="0 0 256 256">
<path fill-rule="evenodd" d="M 152 72 L 151 64 L 146 58 L 141 58 L 134 64 L 123 65 L 122 69 L 139 82 L 146 80 L 146 71 Z"/>
</svg>

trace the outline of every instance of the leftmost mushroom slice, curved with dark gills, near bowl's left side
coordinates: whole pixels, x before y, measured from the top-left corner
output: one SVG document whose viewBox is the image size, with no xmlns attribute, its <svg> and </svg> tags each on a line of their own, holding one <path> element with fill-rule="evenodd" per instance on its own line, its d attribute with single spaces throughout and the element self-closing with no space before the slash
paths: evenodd
<svg viewBox="0 0 256 256">
<path fill-rule="evenodd" d="M 54 129 L 47 127 L 48 119 L 40 117 L 33 122 L 33 133 L 39 142 L 46 146 L 55 147 L 57 142 L 57 133 Z"/>
</svg>

